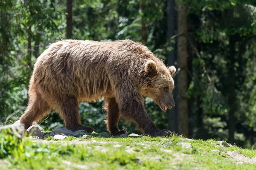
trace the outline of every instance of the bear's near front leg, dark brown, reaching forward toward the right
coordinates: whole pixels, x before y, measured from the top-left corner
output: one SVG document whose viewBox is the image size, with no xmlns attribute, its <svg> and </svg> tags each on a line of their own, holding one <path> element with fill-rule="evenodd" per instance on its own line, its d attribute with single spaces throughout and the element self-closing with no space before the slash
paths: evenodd
<svg viewBox="0 0 256 170">
<path fill-rule="evenodd" d="M 152 119 L 148 116 L 144 108 L 143 96 L 137 94 L 137 96 L 133 95 L 133 97 L 135 99 L 125 97 L 119 104 L 120 112 L 125 121 L 135 122 L 137 129 L 141 130 L 144 134 L 150 136 L 169 136 L 171 134 L 170 130 L 158 130 Z"/>
</svg>

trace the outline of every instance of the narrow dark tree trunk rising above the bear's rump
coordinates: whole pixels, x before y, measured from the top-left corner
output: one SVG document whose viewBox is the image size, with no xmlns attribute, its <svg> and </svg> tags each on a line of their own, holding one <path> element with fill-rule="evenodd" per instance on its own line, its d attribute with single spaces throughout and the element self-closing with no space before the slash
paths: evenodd
<svg viewBox="0 0 256 170">
<path fill-rule="evenodd" d="M 67 27 L 66 27 L 66 38 L 71 39 L 72 38 L 72 0 L 67 0 Z"/>
</svg>

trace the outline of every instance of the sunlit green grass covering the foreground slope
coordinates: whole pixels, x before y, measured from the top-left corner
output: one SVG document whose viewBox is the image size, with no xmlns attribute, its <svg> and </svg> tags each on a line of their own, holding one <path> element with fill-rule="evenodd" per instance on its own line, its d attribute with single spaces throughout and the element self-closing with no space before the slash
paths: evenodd
<svg viewBox="0 0 256 170">
<path fill-rule="evenodd" d="M 180 136 L 141 136 L 139 138 L 102 137 L 91 134 L 91 139 L 68 137 L 55 141 L 24 139 L 12 152 L 0 159 L 0 169 L 205 169 L 252 170 L 256 164 L 238 164 L 225 153 L 212 150 L 233 151 L 247 157 L 256 156 L 255 150 L 240 147 L 220 147 L 218 142 L 188 141 Z M 11 140 L 8 138 L 8 140 Z M 75 141 L 75 142 L 74 142 Z M 79 143 L 77 143 L 79 142 Z M 182 148 L 178 142 L 191 143 L 192 148 Z"/>
</svg>

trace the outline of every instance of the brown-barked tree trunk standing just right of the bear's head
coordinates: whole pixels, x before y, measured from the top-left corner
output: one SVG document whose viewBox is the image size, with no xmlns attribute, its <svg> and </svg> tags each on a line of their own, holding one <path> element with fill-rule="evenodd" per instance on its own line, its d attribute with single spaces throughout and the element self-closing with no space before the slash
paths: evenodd
<svg viewBox="0 0 256 170">
<path fill-rule="evenodd" d="M 178 64 L 180 72 L 178 74 L 178 96 L 179 96 L 179 133 L 188 136 L 188 99 L 186 92 L 188 89 L 187 73 L 187 12 L 186 4 L 178 2 Z"/>
</svg>

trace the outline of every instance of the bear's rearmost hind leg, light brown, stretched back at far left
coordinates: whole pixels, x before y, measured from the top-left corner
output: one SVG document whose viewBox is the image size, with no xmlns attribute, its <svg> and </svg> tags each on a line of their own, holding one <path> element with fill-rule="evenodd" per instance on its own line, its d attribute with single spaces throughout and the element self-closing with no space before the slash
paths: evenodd
<svg viewBox="0 0 256 170">
<path fill-rule="evenodd" d="M 50 106 L 42 99 L 41 94 L 34 92 L 29 96 L 29 105 L 25 113 L 20 117 L 20 123 L 25 125 L 25 129 L 29 128 L 32 123 L 38 122 L 49 114 Z"/>
</svg>

